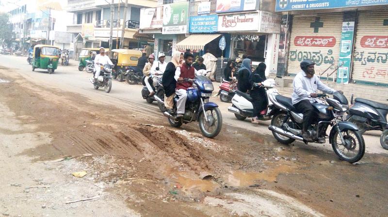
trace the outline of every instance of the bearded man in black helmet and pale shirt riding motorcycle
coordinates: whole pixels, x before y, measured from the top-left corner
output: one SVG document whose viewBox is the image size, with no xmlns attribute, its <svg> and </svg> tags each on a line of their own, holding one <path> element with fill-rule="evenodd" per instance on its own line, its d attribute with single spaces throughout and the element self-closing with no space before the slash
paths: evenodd
<svg viewBox="0 0 388 217">
<path fill-rule="evenodd" d="M 333 94 L 336 92 L 330 87 L 324 85 L 318 76 L 314 75 L 315 62 L 312 60 L 304 60 L 300 63 L 301 71 L 295 76 L 292 85 L 292 105 L 298 112 L 303 113 L 303 129 L 302 136 L 304 139 L 309 139 L 311 135 L 308 133 L 308 127 L 314 122 L 314 108 L 311 103 L 314 103 L 313 98 L 317 98 L 317 90 L 323 93 Z M 339 91 L 343 93 L 342 91 Z"/>
</svg>

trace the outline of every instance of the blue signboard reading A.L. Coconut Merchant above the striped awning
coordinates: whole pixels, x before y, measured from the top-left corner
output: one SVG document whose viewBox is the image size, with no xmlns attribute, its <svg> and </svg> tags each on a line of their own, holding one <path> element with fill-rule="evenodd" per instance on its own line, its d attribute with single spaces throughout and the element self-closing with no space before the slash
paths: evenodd
<svg viewBox="0 0 388 217">
<path fill-rule="evenodd" d="M 218 15 L 190 16 L 189 32 L 215 32 L 218 26 Z"/>
</svg>

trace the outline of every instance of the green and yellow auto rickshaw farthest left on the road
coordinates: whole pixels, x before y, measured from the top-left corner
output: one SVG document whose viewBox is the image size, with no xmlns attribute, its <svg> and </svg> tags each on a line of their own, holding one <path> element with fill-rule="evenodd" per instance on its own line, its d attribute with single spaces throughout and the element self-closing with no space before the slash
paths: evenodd
<svg viewBox="0 0 388 217">
<path fill-rule="evenodd" d="M 47 69 L 49 74 L 58 67 L 59 47 L 50 45 L 35 45 L 32 53 L 32 71 L 35 69 Z"/>
</svg>

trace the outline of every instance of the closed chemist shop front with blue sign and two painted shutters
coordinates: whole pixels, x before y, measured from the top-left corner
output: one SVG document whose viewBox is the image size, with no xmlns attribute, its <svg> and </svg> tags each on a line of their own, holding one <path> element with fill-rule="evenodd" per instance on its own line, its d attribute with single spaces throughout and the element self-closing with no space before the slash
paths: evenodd
<svg viewBox="0 0 388 217">
<path fill-rule="evenodd" d="M 388 1 L 276 0 L 276 11 L 289 20 L 289 75 L 308 58 L 321 79 L 388 87 Z"/>
</svg>

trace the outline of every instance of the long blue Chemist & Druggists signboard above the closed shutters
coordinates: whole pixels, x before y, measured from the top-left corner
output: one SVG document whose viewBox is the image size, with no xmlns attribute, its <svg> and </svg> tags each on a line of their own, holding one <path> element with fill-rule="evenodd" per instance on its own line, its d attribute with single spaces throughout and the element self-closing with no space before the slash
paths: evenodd
<svg viewBox="0 0 388 217">
<path fill-rule="evenodd" d="M 349 8 L 388 4 L 388 0 L 276 0 L 276 11 Z"/>
</svg>

